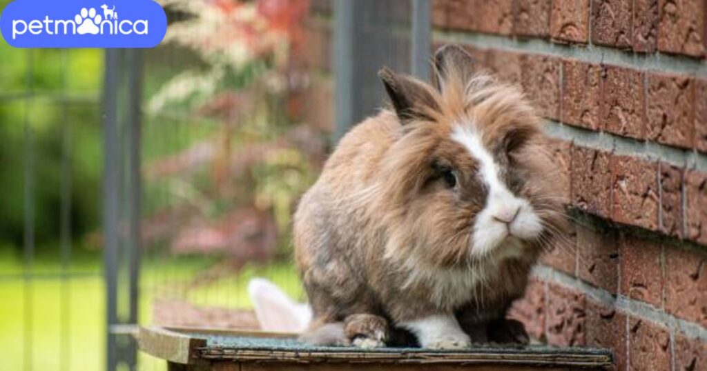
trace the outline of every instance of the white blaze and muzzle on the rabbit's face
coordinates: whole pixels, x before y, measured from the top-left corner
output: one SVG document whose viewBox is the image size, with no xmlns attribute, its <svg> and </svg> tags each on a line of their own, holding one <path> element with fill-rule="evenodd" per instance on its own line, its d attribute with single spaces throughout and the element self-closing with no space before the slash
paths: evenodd
<svg viewBox="0 0 707 371">
<path fill-rule="evenodd" d="M 537 237 L 542 231 L 540 218 L 530 202 L 513 195 L 506 184 L 501 182 L 498 164 L 484 147 L 481 133 L 469 125 L 457 125 L 452 131 L 452 140 L 464 146 L 472 158 L 479 162 L 479 178 L 489 189 L 486 206 L 474 222 L 471 254 L 488 254 L 509 236 L 521 240 Z M 506 225 L 498 219 L 513 219 L 513 222 Z"/>
</svg>

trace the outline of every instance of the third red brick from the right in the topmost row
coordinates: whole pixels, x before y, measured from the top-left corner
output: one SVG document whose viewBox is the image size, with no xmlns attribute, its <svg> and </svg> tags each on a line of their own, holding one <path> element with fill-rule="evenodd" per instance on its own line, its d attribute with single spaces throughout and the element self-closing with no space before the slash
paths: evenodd
<svg viewBox="0 0 707 371">
<path fill-rule="evenodd" d="M 631 47 L 631 1 L 592 1 L 592 43 Z"/>
</svg>

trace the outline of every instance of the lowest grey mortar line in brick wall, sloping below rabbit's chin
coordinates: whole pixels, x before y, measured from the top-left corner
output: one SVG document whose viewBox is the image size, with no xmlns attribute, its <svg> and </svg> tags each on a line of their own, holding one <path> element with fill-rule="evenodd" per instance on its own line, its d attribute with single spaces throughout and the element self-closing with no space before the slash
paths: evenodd
<svg viewBox="0 0 707 371">
<path fill-rule="evenodd" d="M 648 320 L 650 322 L 654 322 L 655 324 L 660 324 L 671 331 L 678 331 L 691 338 L 707 341 L 707 328 L 701 326 L 700 324 L 689 322 L 685 319 L 679 319 L 674 317 L 672 314 L 661 312 L 658 308 L 655 308 L 652 305 L 626 298 L 624 295 L 617 295 L 614 297 L 614 295 L 609 293 L 607 290 L 592 286 L 589 283 L 581 281 L 579 278 L 568 276 L 567 273 L 556 271 L 549 266 L 535 266 L 533 269 L 533 275 L 540 278 L 542 281 L 552 281 L 568 288 L 579 290 L 592 298 L 592 300 L 601 302 L 604 305 L 612 306 L 617 310 L 621 310 L 622 312 L 629 314 L 629 316 Z"/>
</svg>

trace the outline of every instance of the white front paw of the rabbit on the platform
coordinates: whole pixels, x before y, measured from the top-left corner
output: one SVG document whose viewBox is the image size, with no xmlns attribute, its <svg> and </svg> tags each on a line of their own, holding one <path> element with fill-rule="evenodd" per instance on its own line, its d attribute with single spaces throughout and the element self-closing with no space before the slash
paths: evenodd
<svg viewBox="0 0 707 371">
<path fill-rule="evenodd" d="M 423 348 L 464 349 L 471 346 L 453 315 L 434 315 L 398 324 L 413 333 Z"/>
</svg>

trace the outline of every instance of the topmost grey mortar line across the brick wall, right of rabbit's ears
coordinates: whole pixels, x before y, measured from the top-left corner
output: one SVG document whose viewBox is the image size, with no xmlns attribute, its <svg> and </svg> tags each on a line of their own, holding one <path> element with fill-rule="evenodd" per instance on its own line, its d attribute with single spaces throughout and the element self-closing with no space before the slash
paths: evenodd
<svg viewBox="0 0 707 371">
<path fill-rule="evenodd" d="M 537 38 L 525 39 L 457 30 L 435 30 L 433 31 L 433 40 L 512 52 L 547 54 L 593 64 L 624 66 L 641 71 L 689 73 L 694 76 L 707 77 L 707 63 L 701 59 L 661 52 L 644 54 L 600 45 L 565 45 Z"/>
</svg>

